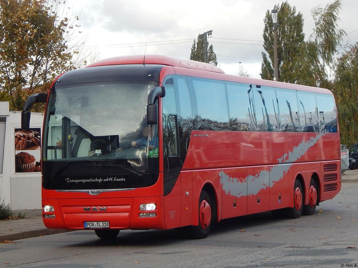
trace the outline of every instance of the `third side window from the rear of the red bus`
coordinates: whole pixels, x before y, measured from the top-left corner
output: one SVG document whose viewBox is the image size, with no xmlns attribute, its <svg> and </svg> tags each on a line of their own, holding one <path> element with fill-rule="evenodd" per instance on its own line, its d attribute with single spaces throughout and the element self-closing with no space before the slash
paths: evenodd
<svg viewBox="0 0 358 268">
<path fill-rule="evenodd" d="M 300 131 L 298 103 L 295 90 L 276 88 L 278 109 L 280 110 L 279 125 L 281 131 Z"/>
</svg>

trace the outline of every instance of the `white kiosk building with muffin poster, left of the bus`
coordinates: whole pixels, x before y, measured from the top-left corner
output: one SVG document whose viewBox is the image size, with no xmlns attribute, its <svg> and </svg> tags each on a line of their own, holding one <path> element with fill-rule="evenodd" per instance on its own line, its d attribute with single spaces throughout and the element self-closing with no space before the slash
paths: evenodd
<svg viewBox="0 0 358 268">
<path fill-rule="evenodd" d="M 42 124 L 43 114 L 31 113 L 31 129 L 22 130 L 21 111 L 0 101 L 0 203 L 12 210 L 41 208 Z"/>
</svg>

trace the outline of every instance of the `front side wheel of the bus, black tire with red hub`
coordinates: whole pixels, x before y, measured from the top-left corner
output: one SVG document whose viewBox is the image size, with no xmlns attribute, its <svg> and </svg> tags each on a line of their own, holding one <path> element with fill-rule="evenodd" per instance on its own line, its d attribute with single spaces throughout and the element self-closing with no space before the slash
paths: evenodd
<svg viewBox="0 0 358 268">
<path fill-rule="evenodd" d="M 211 200 L 206 191 L 200 193 L 199 206 L 199 225 L 190 226 L 190 236 L 193 239 L 206 238 L 212 226 L 212 205 Z"/>
</svg>

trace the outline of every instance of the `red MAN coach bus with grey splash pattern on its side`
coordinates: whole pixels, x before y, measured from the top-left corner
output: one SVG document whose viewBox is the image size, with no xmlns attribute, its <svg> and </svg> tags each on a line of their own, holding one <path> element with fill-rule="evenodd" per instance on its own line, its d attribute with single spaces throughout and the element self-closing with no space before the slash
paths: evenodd
<svg viewBox="0 0 358 268">
<path fill-rule="evenodd" d="M 332 93 L 224 74 L 158 55 L 98 61 L 60 75 L 42 140 L 46 227 L 189 227 L 258 212 L 298 218 L 341 188 Z"/>
</svg>

